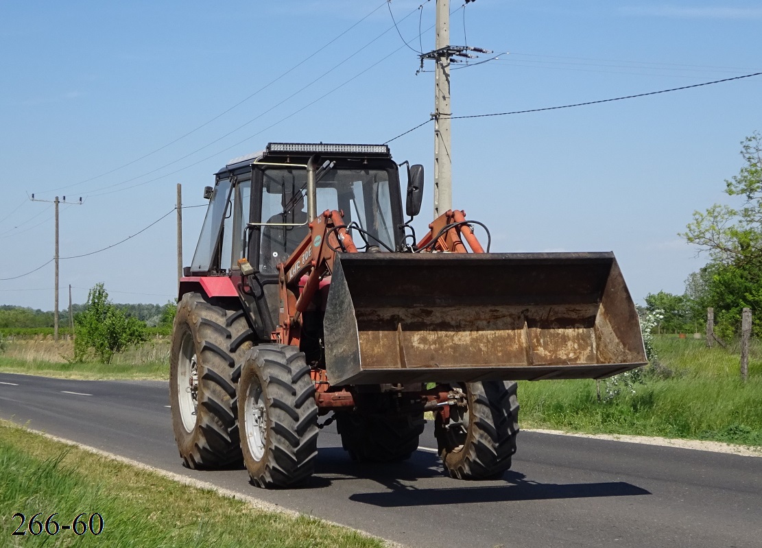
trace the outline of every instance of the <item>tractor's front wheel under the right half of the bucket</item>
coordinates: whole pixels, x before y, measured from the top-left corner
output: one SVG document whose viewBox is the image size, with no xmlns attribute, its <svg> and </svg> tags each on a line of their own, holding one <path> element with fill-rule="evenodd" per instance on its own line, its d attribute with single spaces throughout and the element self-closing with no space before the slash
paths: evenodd
<svg viewBox="0 0 762 548">
<path fill-rule="evenodd" d="M 464 385 L 467 405 L 450 407 L 450 421 L 436 415 L 434 435 L 444 469 L 456 479 L 498 479 L 511 468 L 519 431 L 517 384 Z"/>
</svg>

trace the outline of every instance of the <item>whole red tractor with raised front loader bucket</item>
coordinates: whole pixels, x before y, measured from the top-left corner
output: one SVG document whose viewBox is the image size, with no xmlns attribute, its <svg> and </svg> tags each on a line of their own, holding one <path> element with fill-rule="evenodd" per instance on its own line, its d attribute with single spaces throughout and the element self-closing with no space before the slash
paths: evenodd
<svg viewBox="0 0 762 548">
<path fill-rule="evenodd" d="M 419 240 L 423 168 L 400 165 L 384 145 L 270 143 L 217 172 L 172 336 L 186 466 L 295 486 L 319 418 L 353 459 L 389 462 L 433 412 L 447 473 L 490 479 L 516 450 L 516 380 L 645 364 L 612 253 L 491 253 L 457 210 Z"/>
</svg>

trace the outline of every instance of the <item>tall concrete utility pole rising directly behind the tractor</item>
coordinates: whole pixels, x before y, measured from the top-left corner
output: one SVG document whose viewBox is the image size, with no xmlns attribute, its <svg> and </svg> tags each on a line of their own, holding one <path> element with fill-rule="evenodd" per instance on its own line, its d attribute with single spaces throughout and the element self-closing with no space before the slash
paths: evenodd
<svg viewBox="0 0 762 548">
<path fill-rule="evenodd" d="M 450 156 L 450 0 L 437 0 L 434 58 L 434 219 L 453 207 L 453 159 Z"/>
</svg>

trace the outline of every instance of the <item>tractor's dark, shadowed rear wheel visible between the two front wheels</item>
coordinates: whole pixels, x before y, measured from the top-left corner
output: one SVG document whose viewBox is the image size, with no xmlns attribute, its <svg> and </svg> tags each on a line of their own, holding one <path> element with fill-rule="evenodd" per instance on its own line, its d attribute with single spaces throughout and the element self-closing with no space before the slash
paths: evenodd
<svg viewBox="0 0 762 548">
<path fill-rule="evenodd" d="M 362 411 L 336 413 L 341 445 L 352 460 L 393 463 L 410 458 L 424 431 L 423 412 L 417 416 Z"/>
</svg>

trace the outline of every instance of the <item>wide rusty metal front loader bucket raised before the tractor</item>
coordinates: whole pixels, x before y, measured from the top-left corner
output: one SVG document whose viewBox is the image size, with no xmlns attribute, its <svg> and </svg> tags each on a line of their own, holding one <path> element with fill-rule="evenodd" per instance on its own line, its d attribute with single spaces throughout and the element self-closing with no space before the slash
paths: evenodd
<svg viewBox="0 0 762 548">
<path fill-rule="evenodd" d="M 599 379 L 644 365 L 613 253 L 344 253 L 324 320 L 342 384 Z"/>
</svg>

